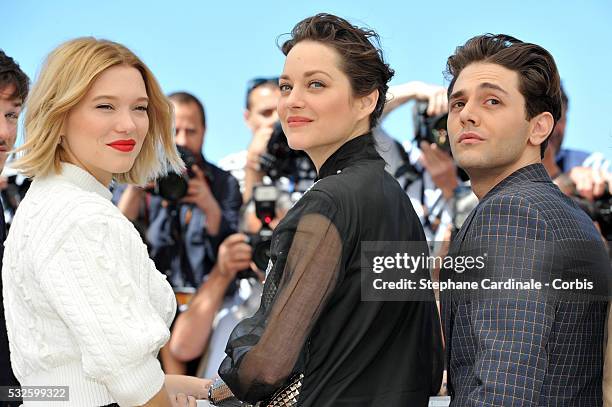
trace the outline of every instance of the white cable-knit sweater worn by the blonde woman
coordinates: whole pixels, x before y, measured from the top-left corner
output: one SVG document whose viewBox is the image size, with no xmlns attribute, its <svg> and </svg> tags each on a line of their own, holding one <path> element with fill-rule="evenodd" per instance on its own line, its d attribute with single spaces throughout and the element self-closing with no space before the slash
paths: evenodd
<svg viewBox="0 0 612 407">
<path fill-rule="evenodd" d="M 176 302 L 111 193 L 81 168 L 35 179 L 5 243 L 13 369 L 22 386 L 70 386 L 60 406 L 144 404 Z M 33 403 L 24 405 L 42 405 Z"/>
</svg>

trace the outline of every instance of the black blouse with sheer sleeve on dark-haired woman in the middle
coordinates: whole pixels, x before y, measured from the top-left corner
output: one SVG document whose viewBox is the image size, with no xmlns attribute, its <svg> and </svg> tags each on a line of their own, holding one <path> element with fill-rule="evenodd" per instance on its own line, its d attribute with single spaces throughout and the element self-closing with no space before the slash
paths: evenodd
<svg viewBox="0 0 612 407">
<path fill-rule="evenodd" d="M 370 134 L 345 143 L 274 231 L 261 306 L 219 375 L 240 400 L 303 374 L 299 406 L 426 406 L 440 385 L 435 302 L 361 301 L 361 241 L 423 241 Z"/>
</svg>

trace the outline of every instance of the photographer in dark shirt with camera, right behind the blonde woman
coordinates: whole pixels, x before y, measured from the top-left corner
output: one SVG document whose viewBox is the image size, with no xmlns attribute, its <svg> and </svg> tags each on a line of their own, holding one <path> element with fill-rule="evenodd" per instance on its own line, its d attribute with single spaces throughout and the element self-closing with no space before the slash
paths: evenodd
<svg viewBox="0 0 612 407">
<path fill-rule="evenodd" d="M 156 187 L 147 191 L 135 186 L 124 191 L 118 188 L 115 200 L 128 219 L 140 217 L 143 221 L 149 254 L 157 269 L 168 276 L 181 303 L 181 292 L 200 287 L 217 262 L 219 245 L 238 230 L 242 198 L 236 179 L 206 161 L 202 154 L 206 132 L 202 103 L 185 92 L 173 93 L 169 98 L 174 105 L 175 141 L 188 165 L 183 174 L 187 178 L 185 196 L 177 199 L 177 190 L 163 193 L 162 181 L 158 180 Z M 228 289 L 231 292 L 235 286 Z M 224 294 L 225 291 L 221 293 Z M 161 351 L 166 373 L 193 374 L 193 365 L 185 370 L 166 348 Z"/>
</svg>

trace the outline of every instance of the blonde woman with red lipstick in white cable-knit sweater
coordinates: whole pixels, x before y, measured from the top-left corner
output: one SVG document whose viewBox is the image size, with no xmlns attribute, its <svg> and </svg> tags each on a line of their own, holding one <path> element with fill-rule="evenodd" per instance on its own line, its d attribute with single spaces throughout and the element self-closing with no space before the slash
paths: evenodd
<svg viewBox="0 0 612 407">
<path fill-rule="evenodd" d="M 162 372 L 174 295 L 108 190 L 180 169 L 172 130 L 151 71 L 110 41 L 60 45 L 27 101 L 15 166 L 33 182 L 6 241 L 4 305 L 21 385 L 69 387 L 54 406 L 195 406 L 177 394 L 205 394 L 208 381 Z"/>
</svg>

